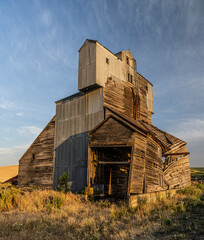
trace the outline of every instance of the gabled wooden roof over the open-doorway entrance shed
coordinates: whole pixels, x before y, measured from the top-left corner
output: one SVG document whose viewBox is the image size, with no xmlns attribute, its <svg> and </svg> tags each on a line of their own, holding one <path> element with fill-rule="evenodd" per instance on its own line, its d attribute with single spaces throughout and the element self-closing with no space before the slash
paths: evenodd
<svg viewBox="0 0 204 240">
<path fill-rule="evenodd" d="M 97 125 L 92 131 L 90 131 L 89 134 L 91 134 L 97 128 L 99 128 L 110 117 L 116 117 L 123 124 L 127 125 L 128 127 L 131 127 L 133 129 L 133 131 L 139 131 L 142 134 L 151 135 L 152 138 L 154 138 L 157 142 L 159 142 L 161 147 L 166 151 L 169 151 L 175 147 L 186 144 L 186 142 L 182 141 L 181 139 L 179 139 L 167 132 L 164 132 L 149 123 L 146 123 L 141 120 L 135 120 L 135 119 L 130 118 L 130 117 L 126 116 L 125 114 L 123 114 L 119 111 L 113 110 L 109 107 L 105 107 L 104 111 L 106 111 L 106 109 L 110 111 L 110 115 L 106 119 L 104 119 L 99 125 Z"/>
</svg>

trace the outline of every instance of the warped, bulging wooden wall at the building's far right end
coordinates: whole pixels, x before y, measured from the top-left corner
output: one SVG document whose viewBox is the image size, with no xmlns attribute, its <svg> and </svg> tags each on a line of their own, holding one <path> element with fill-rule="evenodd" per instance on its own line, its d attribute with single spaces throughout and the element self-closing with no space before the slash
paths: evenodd
<svg viewBox="0 0 204 240">
<path fill-rule="evenodd" d="M 170 153 L 186 153 L 186 145 L 180 146 Z M 165 159 L 164 182 L 168 189 L 191 185 L 189 157 L 185 154 L 169 155 Z"/>
</svg>

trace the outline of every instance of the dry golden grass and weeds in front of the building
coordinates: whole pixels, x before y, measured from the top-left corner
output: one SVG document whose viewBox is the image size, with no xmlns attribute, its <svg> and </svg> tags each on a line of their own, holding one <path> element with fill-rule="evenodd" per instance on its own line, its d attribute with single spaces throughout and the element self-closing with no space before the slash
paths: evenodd
<svg viewBox="0 0 204 240">
<path fill-rule="evenodd" d="M 203 239 L 204 185 L 136 209 L 54 190 L 0 186 L 0 239 Z"/>
</svg>

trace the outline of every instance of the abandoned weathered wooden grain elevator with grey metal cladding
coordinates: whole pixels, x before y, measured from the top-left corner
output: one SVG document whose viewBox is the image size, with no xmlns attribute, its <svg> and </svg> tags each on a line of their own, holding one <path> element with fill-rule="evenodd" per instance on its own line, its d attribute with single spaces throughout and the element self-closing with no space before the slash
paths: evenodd
<svg viewBox="0 0 204 240">
<path fill-rule="evenodd" d="M 136 69 L 130 50 L 113 54 L 87 39 L 79 92 L 56 102 L 56 115 L 19 160 L 19 184 L 56 188 L 69 171 L 73 192 L 87 186 L 122 198 L 190 185 L 186 142 L 152 125 L 153 85 Z"/>
</svg>

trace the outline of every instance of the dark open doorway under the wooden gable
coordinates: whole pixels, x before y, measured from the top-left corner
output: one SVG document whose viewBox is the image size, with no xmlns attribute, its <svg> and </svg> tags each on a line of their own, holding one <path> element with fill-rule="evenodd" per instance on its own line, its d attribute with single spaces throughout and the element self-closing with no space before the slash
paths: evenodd
<svg viewBox="0 0 204 240">
<path fill-rule="evenodd" d="M 125 198 L 131 161 L 131 147 L 102 147 L 94 150 L 97 160 L 94 183 L 105 196 Z"/>
</svg>

